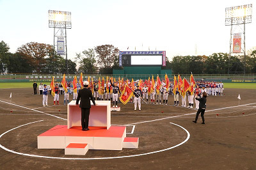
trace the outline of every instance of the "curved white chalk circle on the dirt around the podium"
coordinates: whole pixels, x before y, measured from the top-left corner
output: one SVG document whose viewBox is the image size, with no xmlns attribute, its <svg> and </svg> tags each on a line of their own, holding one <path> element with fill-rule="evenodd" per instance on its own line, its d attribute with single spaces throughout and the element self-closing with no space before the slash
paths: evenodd
<svg viewBox="0 0 256 170">
<path fill-rule="evenodd" d="M 40 120 L 40 121 L 43 121 L 43 120 Z M 36 122 L 39 122 L 39 121 L 33 121 L 31 123 L 36 123 Z M 24 125 L 20 125 L 19 127 L 23 127 L 25 125 L 29 125 L 31 123 L 26 123 Z M 38 158 L 52 158 L 52 159 L 65 159 L 65 160 L 103 160 L 103 159 L 113 159 L 113 158 L 131 158 L 131 157 L 140 157 L 140 156 L 143 156 L 143 155 L 150 155 L 150 154 L 153 154 L 153 153 L 159 153 L 159 152 L 162 152 L 162 151 L 167 151 L 167 150 L 172 150 L 173 148 L 176 148 L 184 143 L 186 143 L 190 137 L 190 134 L 188 132 L 188 130 L 186 130 L 186 128 L 180 126 L 180 125 L 177 125 L 175 123 L 170 123 L 172 125 L 175 125 L 177 127 L 180 127 L 182 128 L 186 133 L 187 133 L 187 137 L 184 141 L 182 141 L 181 143 L 179 144 L 176 144 L 175 146 L 172 146 L 170 148 L 166 148 L 166 149 L 163 149 L 163 150 L 158 150 L 158 151 L 150 151 L 148 153 L 141 153 L 141 154 L 137 154 L 137 155 L 127 155 L 127 156 L 119 156 L 119 157 L 101 157 L 101 158 L 63 158 L 63 157 L 47 157 L 47 156 L 41 156 L 41 155 L 32 155 L 32 154 L 28 154 L 28 153 L 20 153 L 18 151 L 13 151 L 13 150 L 9 150 L 8 148 L 5 148 L 3 145 L 0 144 L 0 148 L 2 148 L 3 150 L 6 150 L 6 151 L 9 151 L 11 153 L 15 153 L 15 154 L 18 154 L 18 155 L 23 155 L 23 156 L 27 156 L 27 157 L 38 157 Z M 12 131 L 12 130 L 15 130 L 16 128 L 19 128 L 19 127 L 15 127 L 15 128 L 12 128 L 6 132 L 4 132 L 3 134 L 0 135 L 0 138 L 4 135 L 4 134 L 7 134 L 8 132 Z"/>
</svg>

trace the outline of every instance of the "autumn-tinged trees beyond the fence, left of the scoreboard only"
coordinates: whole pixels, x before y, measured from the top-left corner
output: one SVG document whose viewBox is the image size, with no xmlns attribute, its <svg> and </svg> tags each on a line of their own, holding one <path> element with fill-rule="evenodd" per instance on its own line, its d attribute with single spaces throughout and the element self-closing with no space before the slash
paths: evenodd
<svg viewBox="0 0 256 170">
<path fill-rule="evenodd" d="M 15 53 L 4 41 L 0 42 L 0 73 L 106 73 L 118 66 L 118 48 L 113 45 L 99 45 L 95 49 L 76 54 L 74 61 L 66 59 L 53 46 L 45 43 L 29 42 L 20 46 Z M 53 56 L 54 54 L 54 56 Z M 77 63 L 79 67 L 77 69 Z"/>
</svg>

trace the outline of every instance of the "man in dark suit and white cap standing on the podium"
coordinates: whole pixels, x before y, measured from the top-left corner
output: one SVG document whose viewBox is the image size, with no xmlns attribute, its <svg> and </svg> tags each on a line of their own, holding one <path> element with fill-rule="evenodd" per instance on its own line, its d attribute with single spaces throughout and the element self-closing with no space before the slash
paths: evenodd
<svg viewBox="0 0 256 170">
<path fill-rule="evenodd" d="M 88 88 L 89 82 L 84 81 L 84 88 L 80 89 L 77 95 L 76 104 L 78 104 L 79 99 L 81 98 L 81 102 L 79 107 L 81 107 L 81 124 L 82 124 L 82 130 L 86 131 L 89 130 L 89 115 L 90 115 L 90 108 L 91 108 L 91 101 L 93 102 L 93 105 L 95 104 L 94 98 L 92 96 L 92 91 Z"/>
</svg>

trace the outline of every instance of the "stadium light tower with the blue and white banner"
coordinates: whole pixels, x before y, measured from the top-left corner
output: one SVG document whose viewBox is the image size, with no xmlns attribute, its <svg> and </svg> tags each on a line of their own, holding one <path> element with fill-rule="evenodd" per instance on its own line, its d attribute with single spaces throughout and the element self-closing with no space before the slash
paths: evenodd
<svg viewBox="0 0 256 170">
<path fill-rule="evenodd" d="M 49 19 L 49 27 L 54 28 L 53 61 L 54 61 L 55 46 L 57 46 L 57 54 L 66 56 L 66 68 L 68 73 L 67 29 L 71 29 L 72 27 L 71 12 L 49 10 L 48 19 Z M 57 43 L 55 44 L 56 39 L 57 39 Z M 53 73 L 54 73 L 54 67 L 53 67 Z"/>
</svg>

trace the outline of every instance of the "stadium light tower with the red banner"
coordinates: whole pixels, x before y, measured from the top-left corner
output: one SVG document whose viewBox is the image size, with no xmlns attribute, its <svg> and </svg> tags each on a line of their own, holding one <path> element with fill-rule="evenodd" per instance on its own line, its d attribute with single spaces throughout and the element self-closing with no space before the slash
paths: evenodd
<svg viewBox="0 0 256 170">
<path fill-rule="evenodd" d="M 241 62 L 236 62 L 230 67 L 230 57 L 238 56 L 241 61 L 244 60 L 244 74 L 246 71 L 246 50 L 245 50 L 245 24 L 252 22 L 252 4 L 233 6 L 225 9 L 225 26 L 231 26 L 229 56 L 228 56 L 228 74 L 239 73 L 237 69 L 241 67 Z M 243 37 L 241 36 L 243 34 Z M 242 47 L 243 42 L 243 47 Z M 233 46 L 233 47 L 232 47 Z M 232 72 L 231 72 L 232 71 Z"/>
</svg>

